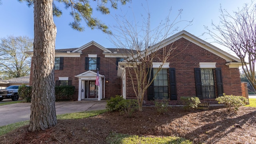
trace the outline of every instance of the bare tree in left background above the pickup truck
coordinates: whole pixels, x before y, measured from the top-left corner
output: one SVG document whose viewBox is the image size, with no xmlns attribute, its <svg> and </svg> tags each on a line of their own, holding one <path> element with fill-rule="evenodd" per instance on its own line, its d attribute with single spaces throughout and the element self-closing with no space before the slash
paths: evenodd
<svg viewBox="0 0 256 144">
<path fill-rule="evenodd" d="M 9 36 L 0 40 L 0 76 L 5 80 L 28 76 L 31 60 L 25 52 L 33 49 L 33 39 Z"/>
</svg>

